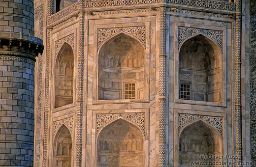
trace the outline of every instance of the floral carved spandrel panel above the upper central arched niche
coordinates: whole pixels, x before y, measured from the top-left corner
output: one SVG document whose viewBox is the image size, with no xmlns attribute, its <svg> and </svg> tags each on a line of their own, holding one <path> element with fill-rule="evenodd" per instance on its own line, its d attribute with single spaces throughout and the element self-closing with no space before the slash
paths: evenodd
<svg viewBox="0 0 256 167">
<path fill-rule="evenodd" d="M 136 36 L 145 46 L 146 27 L 131 27 L 131 28 L 100 28 L 98 29 L 98 47 L 110 36 L 118 32 L 126 32 Z"/>
</svg>

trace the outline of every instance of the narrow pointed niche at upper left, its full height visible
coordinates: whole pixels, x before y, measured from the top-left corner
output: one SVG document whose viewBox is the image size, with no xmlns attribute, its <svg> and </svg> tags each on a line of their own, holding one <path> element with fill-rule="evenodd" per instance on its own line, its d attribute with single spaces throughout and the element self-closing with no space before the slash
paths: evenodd
<svg viewBox="0 0 256 167">
<path fill-rule="evenodd" d="M 74 54 L 70 45 L 64 43 L 55 67 L 55 108 L 73 103 Z"/>
</svg>

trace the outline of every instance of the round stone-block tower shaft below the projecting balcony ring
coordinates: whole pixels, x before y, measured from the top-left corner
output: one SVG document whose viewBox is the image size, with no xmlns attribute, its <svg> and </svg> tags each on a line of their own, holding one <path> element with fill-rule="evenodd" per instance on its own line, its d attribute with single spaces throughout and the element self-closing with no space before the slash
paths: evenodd
<svg viewBox="0 0 256 167">
<path fill-rule="evenodd" d="M 32 167 L 34 62 L 1 59 L 0 166 Z"/>
</svg>

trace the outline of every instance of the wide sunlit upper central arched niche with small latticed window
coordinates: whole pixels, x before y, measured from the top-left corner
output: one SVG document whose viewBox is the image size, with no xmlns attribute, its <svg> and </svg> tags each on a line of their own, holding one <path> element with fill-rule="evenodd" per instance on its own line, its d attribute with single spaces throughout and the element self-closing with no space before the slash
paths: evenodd
<svg viewBox="0 0 256 167">
<path fill-rule="evenodd" d="M 145 48 L 121 33 L 100 48 L 98 99 L 144 99 Z"/>
</svg>

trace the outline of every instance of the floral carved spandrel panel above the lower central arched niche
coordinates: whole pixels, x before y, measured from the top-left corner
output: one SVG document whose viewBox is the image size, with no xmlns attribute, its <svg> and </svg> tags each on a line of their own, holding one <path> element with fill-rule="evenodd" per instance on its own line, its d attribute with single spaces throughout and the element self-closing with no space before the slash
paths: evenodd
<svg viewBox="0 0 256 167">
<path fill-rule="evenodd" d="M 100 131 L 100 129 L 107 124 L 108 122 L 118 119 L 118 118 L 126 118 L 135 124 L 137 124 L 143 133 L 145 134 L 145 113 L 113 113 L 113 114 L 97 114 L 96 115 L 96 133 Z"/>
</svg>

